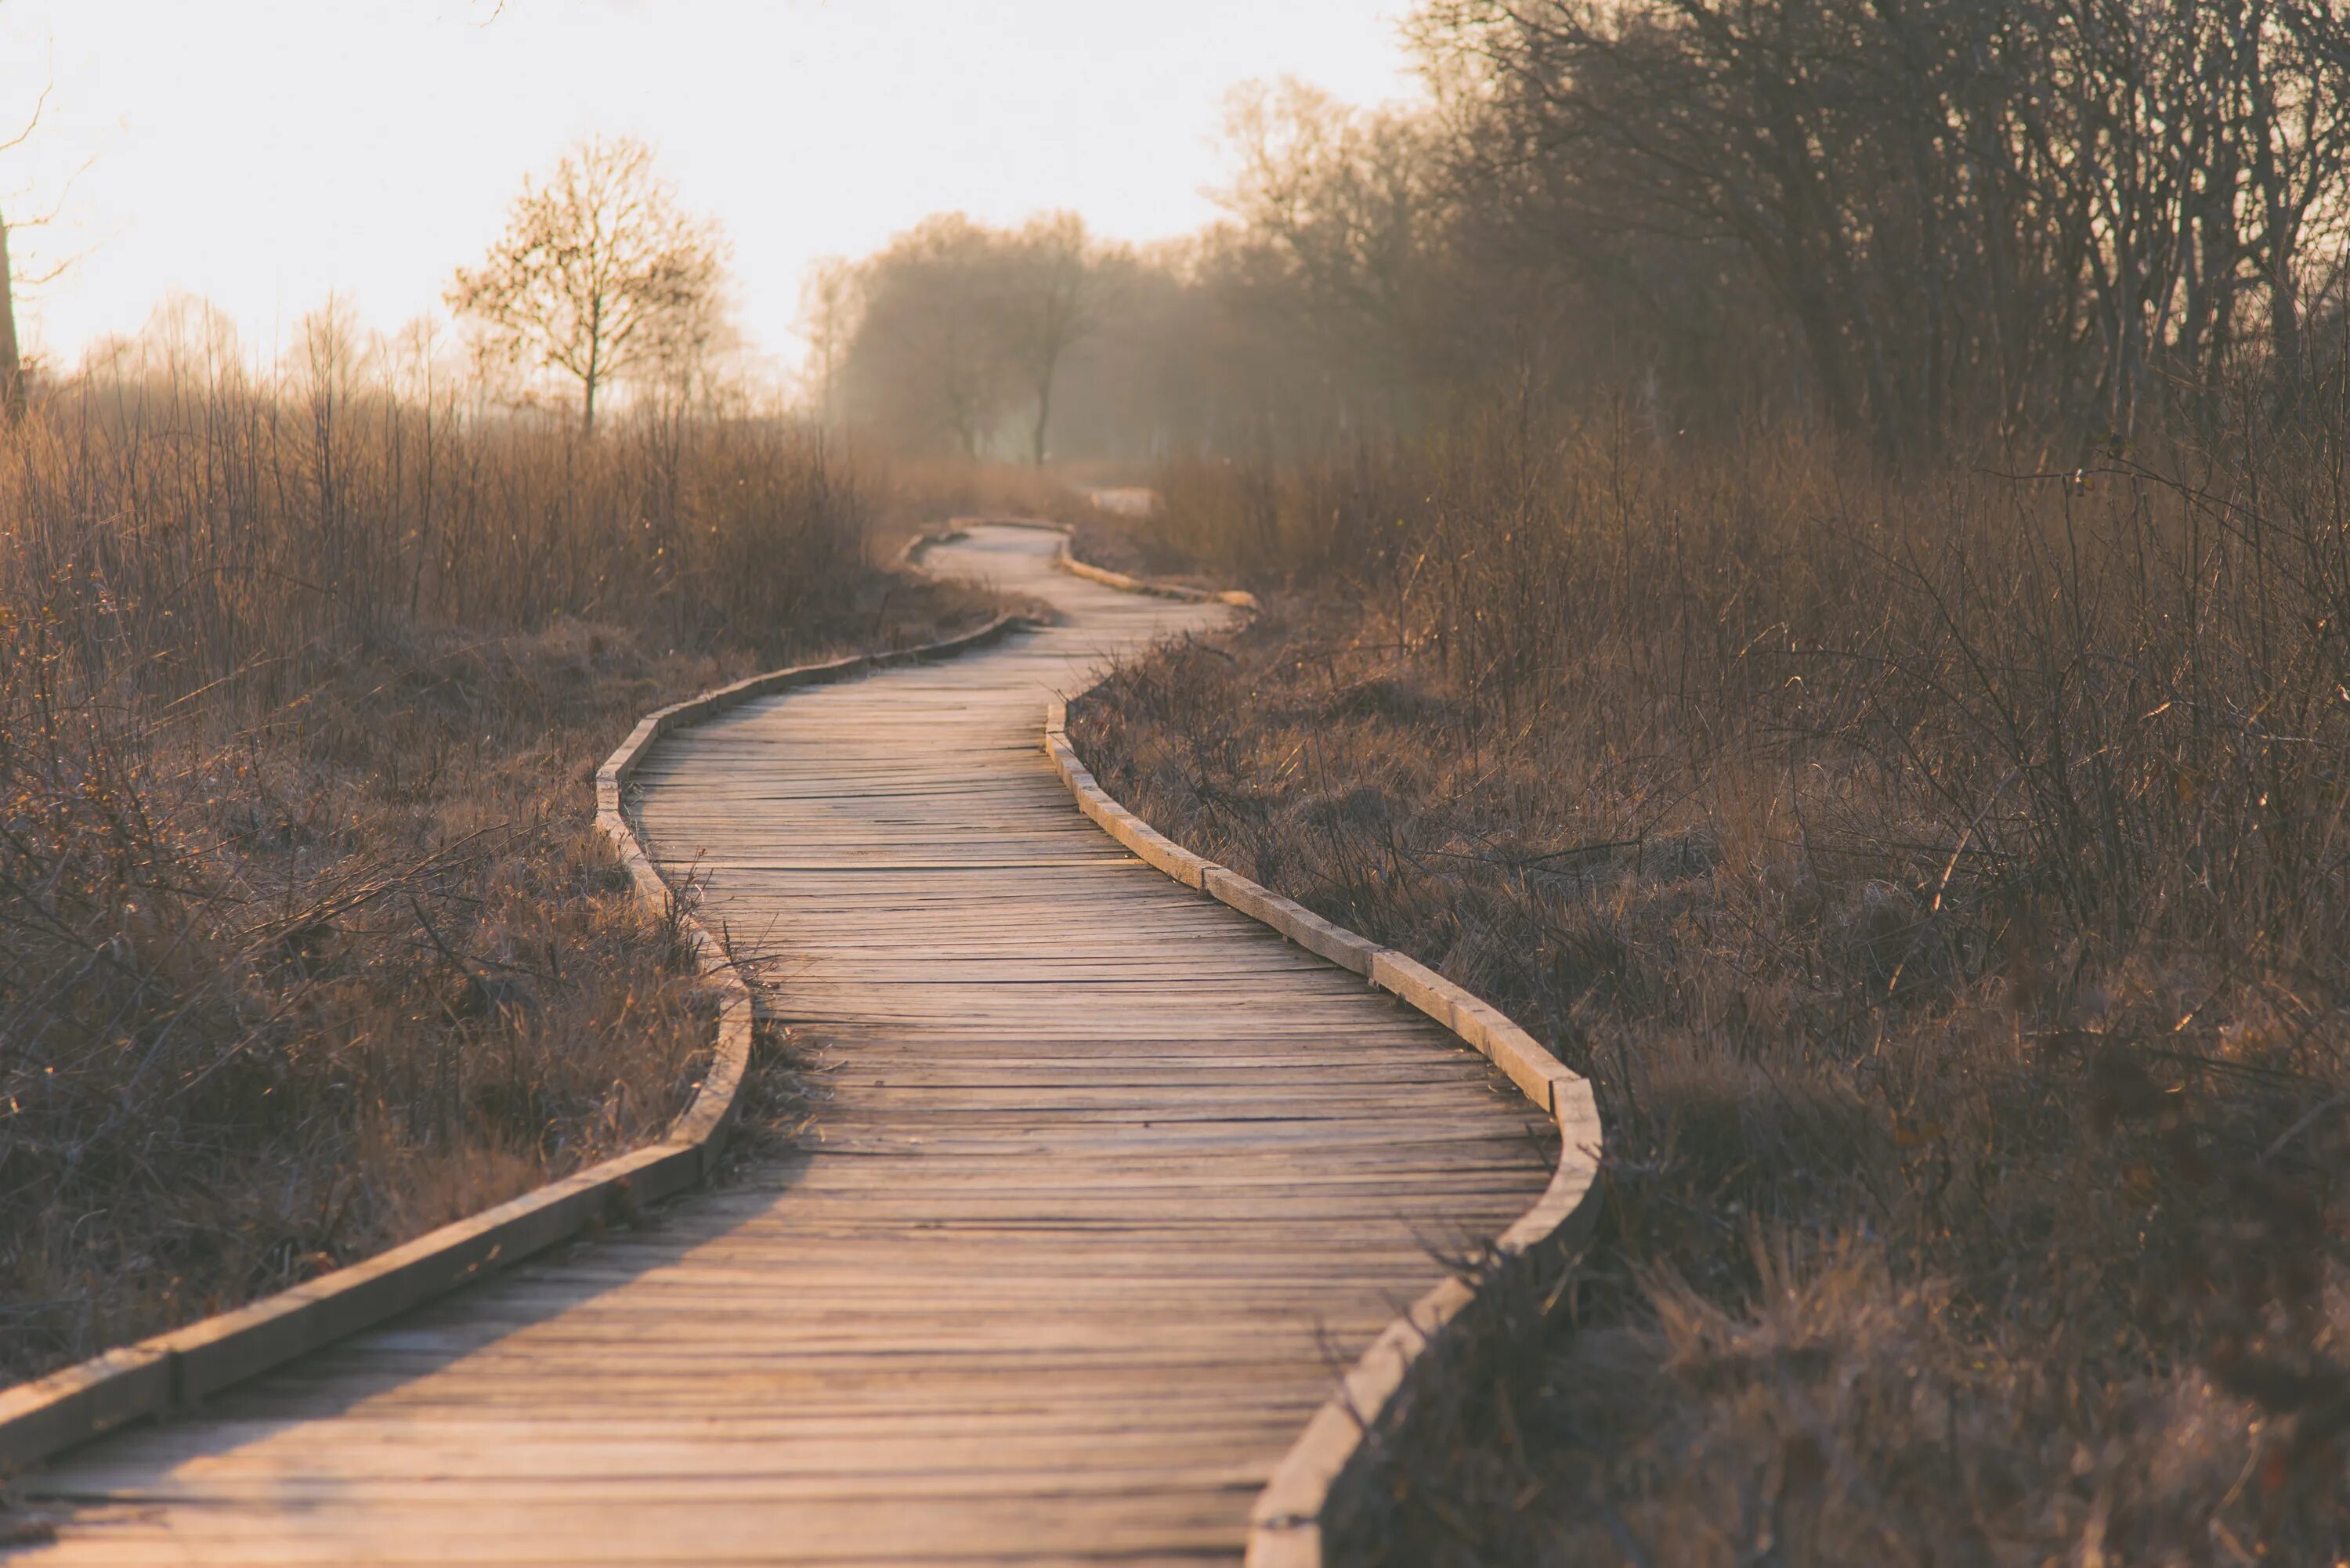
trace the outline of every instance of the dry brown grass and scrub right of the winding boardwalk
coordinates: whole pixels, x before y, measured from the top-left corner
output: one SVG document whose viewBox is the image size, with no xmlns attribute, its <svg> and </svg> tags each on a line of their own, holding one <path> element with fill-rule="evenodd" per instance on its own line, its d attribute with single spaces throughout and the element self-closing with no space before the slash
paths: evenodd
<svg viewBox="0 0 2350 1568">
<path fill-rule="evenodd" d="M 1612 1138 L 1591 1260 L 1415 1403 L 1347 1561 L 2350 1552 L 2345 449 L 2268 404 L 2169 477 L 1605 421 L 1170 475 L 1271 607 L 1079 750 Z"/>
</svg>

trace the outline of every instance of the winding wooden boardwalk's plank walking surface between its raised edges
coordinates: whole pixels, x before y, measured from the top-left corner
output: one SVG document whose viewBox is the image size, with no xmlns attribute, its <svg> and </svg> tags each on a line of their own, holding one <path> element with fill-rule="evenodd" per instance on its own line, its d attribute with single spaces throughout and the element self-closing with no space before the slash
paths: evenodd
<svg viewBox="0 0 2350 1568">
<path fill-rule="evenodd" d="M 1076 813 L 1048 691 L 1220 607 L 933 550 L 1065 623 L 663 741 L 639 823 L 780 954 L 801 1147 L 202 1420 L 68 1455 L 40 1563 L 1203 1563 L 1335 1371 L 1544 1190 L 1450 1034 Z"/>
</svg>

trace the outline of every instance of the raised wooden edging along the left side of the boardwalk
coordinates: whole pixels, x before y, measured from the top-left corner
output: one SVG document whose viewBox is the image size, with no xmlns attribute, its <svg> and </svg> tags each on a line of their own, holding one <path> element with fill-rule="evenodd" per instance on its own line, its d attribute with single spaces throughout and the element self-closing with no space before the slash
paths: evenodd
<svg viewBox="0 0 2350 1568">
<path fill-rule="evenodd" d="M 639 719 L 597 771 L 597 827 L 613 842 L 637 896 L 656 912 L 667 912 L 670 900 L 679 898 L 653 867 L 623 804 L 630 773 L 653 741 L 790 686 L 961 654 L 1018 625 L 1020 616 L 999 616 L 975 632 L 916 649 L 771 670 Z M 289 1291 L 0 1389 L 0 1472 L 38 1465 L 143 1418 L 195 1408 L 223 1387 L 446 1295 L 592 1225 L 627 1220 L 644 1204 L 707 1178 L 724 1150 L 750 1065 L 752 994 L 700 919 L 684 907 L 677 910 L 677 919 L 696 961 L 719 990 L 719 1020 L 710 1070 L 658 1143 L 616 1154 Z"/>
</svg>

